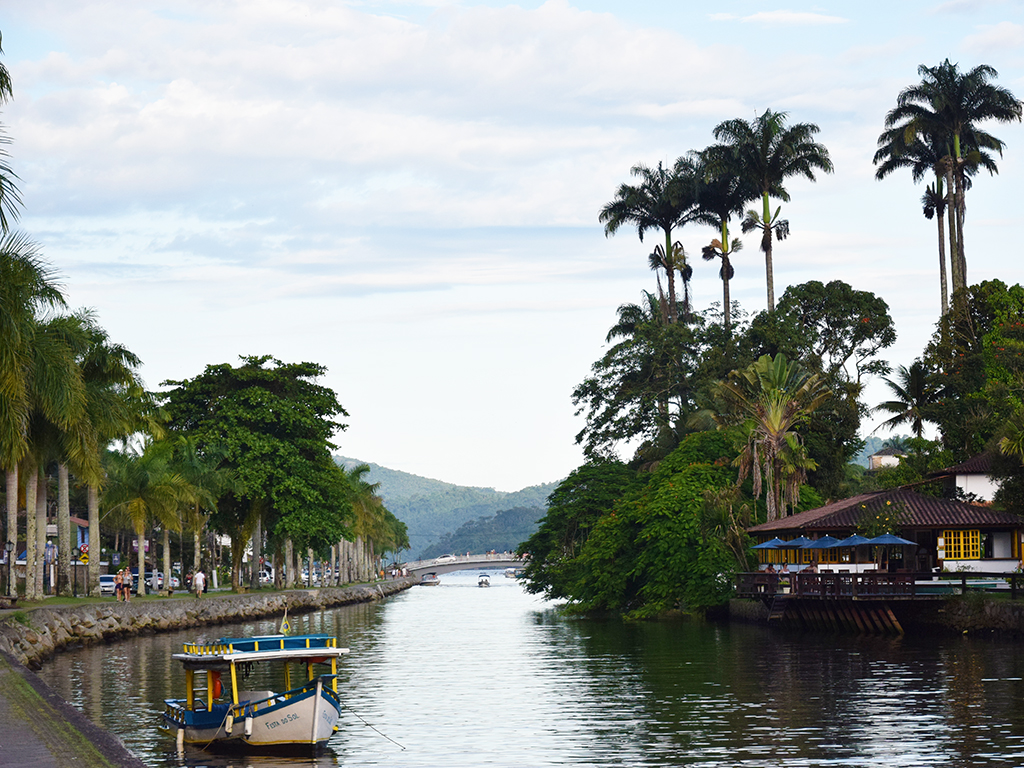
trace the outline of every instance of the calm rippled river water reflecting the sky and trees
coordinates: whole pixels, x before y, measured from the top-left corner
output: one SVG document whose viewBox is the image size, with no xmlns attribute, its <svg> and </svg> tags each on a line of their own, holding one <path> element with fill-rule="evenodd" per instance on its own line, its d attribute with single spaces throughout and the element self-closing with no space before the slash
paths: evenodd
<svg viewBox="0 0 1024 768">
<path fill-rule="evenodd" d="M 179 757 L 157 731 L 184 640 L 63 653 L 42 676 L 152 766 L 1017 766 L 1024 652 L 1012 642 L 781 635 L 559 615 L 512 580 L 452 573 L 380 605 L 293 616 L 351 648 L 349 708 L 315 760 Z"/>
</svg>

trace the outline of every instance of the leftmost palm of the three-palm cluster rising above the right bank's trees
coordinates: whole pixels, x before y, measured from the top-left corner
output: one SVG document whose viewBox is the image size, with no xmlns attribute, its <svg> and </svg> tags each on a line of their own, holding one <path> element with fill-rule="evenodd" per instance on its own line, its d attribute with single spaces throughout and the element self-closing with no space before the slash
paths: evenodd
<svg viewBox="0 0 1024 768">
<path fill-rule="evenodd" d="M 615 199 L 601 209 L 598 220 L 604 224 L 605 237 L 611 237 L 623 224 L 637 228 L 640 242 L 648 229 L 660 229 L 665 234 L 664 246 L 655 249 L 650 259 L 652 265 L 664 268 L 669 282 L 669 322 L 678 319 L 676 304 L 676 270 L 685 265 L 682 246 L 674 243 L 672 233 L 693 219 L 694 168 L 691 161 L 679 158 L 670 170 L 660 163 L 657 168 L 635 165 L 630 173 L 640 178 L 637 185 L 622 184 Z"/>
</svg>

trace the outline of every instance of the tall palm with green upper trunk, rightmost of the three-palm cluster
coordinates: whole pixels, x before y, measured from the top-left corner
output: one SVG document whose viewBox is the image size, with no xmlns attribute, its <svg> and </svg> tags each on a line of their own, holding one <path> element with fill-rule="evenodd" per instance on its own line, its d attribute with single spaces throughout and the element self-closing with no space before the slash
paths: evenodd
<svg viewBox="0 0 1024 768">
<path fill-rule="evenodd" d="M 791 176 L 804 176 L 815 180 L 815 170 L 833 172 L 828 151 L 813 140 L 819 128 L 813 123 L 785 125 L 786 113 L 765 110 L 764 114 L 748 122 L 727 120 L 715 127 L 715 138 L 720 144 L 713 150 L 717 162 L 716 173 L 733 173 L 742 177 L 755 189 L 749 200 L 761 199 L 761 212 L 750 210 L 743 219 L 743 232 L 761 230 L 761 250 L 765 254 L 768 283 L 768 311 L 775 310 L 775 276 L 772 263 L 772 236 L 782 241 L 790 236 L 790 222 L 780 219 L 781 206 L 771 213 L 769 198 L 790 202 L 783 182 Z"/>
</svg>

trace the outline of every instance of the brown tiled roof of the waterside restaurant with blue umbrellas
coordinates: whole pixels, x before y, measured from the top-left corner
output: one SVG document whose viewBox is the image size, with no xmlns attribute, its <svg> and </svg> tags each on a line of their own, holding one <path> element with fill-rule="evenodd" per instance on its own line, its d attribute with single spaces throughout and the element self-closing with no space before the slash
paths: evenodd
<svg viewBox="0 0 1024 768">
<path fill-rule="evenodd" d="M 914 494 L 912 490 L 880 490 L 861 494 L 850 499 L 826 504 L 824 507 L 809 509 L 779 520 L 761 523 L 748 528 L 751 534 L 768 534 L 777 530 L 852 530 L 857 527 L 864 508 L 877 509 L 886 503 L 898 505 L 907 510 L 908 517 L 903 527 L 935 528 L 943 525 L 964 526 L 1021 526 L 1024 518 L 1009 512 L 999 512 L 989 507 L 936 499 L 932 496 Z"/>
</svg>

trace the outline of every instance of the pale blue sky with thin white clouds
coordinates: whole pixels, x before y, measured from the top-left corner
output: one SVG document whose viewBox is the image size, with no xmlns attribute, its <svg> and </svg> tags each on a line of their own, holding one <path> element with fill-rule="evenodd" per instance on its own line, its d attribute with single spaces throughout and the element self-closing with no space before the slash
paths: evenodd
<svg viewBox="0 0 1024 768">
<path fill-rule="evenodd" d="M 836 167 L 787 185 L 776 296 L 878 294 L 893 366 L 934 330 L 935 222 L 908 173 L 874 180 L 876 141 L 920 65 L 990 65 L 1024 95 L 1024 2 L 779 2 L 7 3 L 18 226 L 153 389 L 240 355 L 314 361 L 349 414 L 341 455 L 558 480 L 582 463 L 573 387 L 655 290 L 649 238 L 606 238 L 598 212 L 724 120 L 815 123 Z M 1007 148 L 968 198 L 968 274 L 1013 284 L 1024 127 L 989 130 Z M 714 234 L 678 236 L 697 307 L 721 301 Z M 745 241 L 732 297 L 755 313 Z"/>
</svg>

